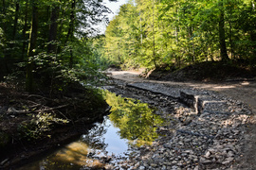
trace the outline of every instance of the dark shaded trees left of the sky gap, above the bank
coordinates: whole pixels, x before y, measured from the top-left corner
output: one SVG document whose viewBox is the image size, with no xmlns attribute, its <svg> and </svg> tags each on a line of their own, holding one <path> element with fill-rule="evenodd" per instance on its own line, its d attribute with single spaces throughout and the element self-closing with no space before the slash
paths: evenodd
<svg viewBox="0 0 256 170">
<path fill-rule="evenodd" d="M 1 79 L 26 79 L 33 92 L 40 83 L 95 72 L 89 37 L 110 12 L 101 1 L 3 0 L 0 11 Z"/>
</svg>

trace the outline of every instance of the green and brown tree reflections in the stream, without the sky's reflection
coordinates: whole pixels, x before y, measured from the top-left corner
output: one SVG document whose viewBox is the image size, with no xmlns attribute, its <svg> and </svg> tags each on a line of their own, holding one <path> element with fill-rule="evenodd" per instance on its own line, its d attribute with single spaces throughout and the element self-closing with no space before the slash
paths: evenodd
<svg viewBox="0 0 256 170">
<path fill-rule="evenodd" d="M 130 140 L 131 144 L 142 145 L 150 144 L 158 137 L 155 126 L 163 120 L 153 113 L 148 104 L 122 98 L 115 93 L 106 92 L 105 96 L 107 103 L 112 107 L 109 118 L 115 127 L 119 127 L 121 138 Z M 82 135 L 80 141 L 66 145 L 47 157 L 39 166 L 43 169 L 101 169 L 104 163 L 90 156 L 90 152 L 106 153 L 107 144 L 103 135 L 107 126 L 109 125 L 106 120 L 97 124 L 87 134 Z M 100 156 L 99 153 L 95 154 L 96 157 Z"/>
</svg>

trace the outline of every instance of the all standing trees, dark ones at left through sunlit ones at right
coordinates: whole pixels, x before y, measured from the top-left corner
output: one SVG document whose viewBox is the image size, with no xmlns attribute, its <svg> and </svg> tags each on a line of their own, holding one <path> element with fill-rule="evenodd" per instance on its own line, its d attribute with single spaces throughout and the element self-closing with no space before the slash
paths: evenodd
<svg viewBox="0 0 256 170">
<path fill-rule="evenodd" d="M 51 83 L 97 77 L 111 64 L 172 70 L 224 61 L 255 67 L 254 0 L 130 0 L 110 22 L 108 12 L 98 0 L 1 1 L 1 79 L 24 77 L 32 92 L 46 76 Z M 104 35 L 95 27 L 101 22 L 108 24 Z M 33 80 L 36 75 L 42 79 Z"/>
</svg>

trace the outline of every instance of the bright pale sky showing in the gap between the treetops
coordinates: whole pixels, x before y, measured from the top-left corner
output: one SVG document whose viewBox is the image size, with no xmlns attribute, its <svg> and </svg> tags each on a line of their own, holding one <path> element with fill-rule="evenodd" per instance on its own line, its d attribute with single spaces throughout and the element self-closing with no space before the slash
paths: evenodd
<svg viewBox="0 0 256 170">
<path fill-rule="evenodd" d="M 111 21 L 115 15 L 119 13 L 119 8 L 123 4 L 126 4 L 128 0 L 118 0 L 118 2 L 109 2 L 109 0 L 103 0 L 103 5 L 107 8 L 110 8 L 113 13 L 108 13 L 109 20 Z M 101 34 L 104 34 L 106 30 L 106 25 L 104 23 L 101 23 L 99 26 L 97 26 L 98 29 L 101 31 Z"/>
</svg>

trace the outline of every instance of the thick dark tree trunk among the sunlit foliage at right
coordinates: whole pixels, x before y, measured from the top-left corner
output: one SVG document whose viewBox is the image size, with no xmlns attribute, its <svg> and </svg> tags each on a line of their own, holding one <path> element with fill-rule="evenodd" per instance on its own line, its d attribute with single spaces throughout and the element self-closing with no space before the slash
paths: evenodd
<svg viewBox="0 0 256 170">
<path fill-rule="evenodd" d="M 229 60 L 226 47 L 226 38 L 225 38 L 225 20 L 224 20 L 224 10 L 223 4 L 221 3 L 220 15 L 219 15 L 219 43 L 220 43 L 220 56 L 222 61 Z"/>
</svg>

